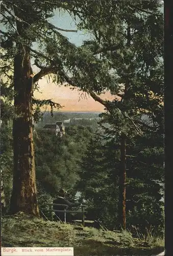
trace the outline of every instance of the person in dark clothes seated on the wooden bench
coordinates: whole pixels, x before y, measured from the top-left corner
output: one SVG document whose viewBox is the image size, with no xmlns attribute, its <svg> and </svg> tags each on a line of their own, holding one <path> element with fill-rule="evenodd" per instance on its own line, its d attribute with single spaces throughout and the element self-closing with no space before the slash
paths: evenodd
<svg viewBox="0 0 173 256">
<path fill-rule="evenodd" d="M 67 199 L 64 198 L 66 192 L 64 189 L 60 189 L 58 191 L 58 198 L 53 201 L 54 204 L 66 204 L 67 205 L 67 210 L 71 209 L 72 207 L 77 207 L 80 205 L 80 203 L 71 203 Z M 53 206 L 54 210 L 64 210 L 64 206 L 60 205 L 54 205 Z M 55 212 L 55 220 L 61 220 L 64 222 L 64 212 Z M 68 212 L 66 214 L 66 222 L 72 222 L 73 216 Z"/>
</svg>

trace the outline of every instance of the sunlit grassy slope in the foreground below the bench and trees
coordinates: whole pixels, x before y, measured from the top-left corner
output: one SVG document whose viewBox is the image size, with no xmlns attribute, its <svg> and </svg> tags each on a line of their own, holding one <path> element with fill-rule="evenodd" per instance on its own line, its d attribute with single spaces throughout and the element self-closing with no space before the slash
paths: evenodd
<svg viewBox="0 0 173 256">
<path fill-rule="evenodd" d="M 99 231 L 44 221 L 24 214 L 2 218 L 3 247 L 74 247 L 75 256 L 156 255 L 162 243 L 142 244 L 127 231 Z"/>
</svg>

